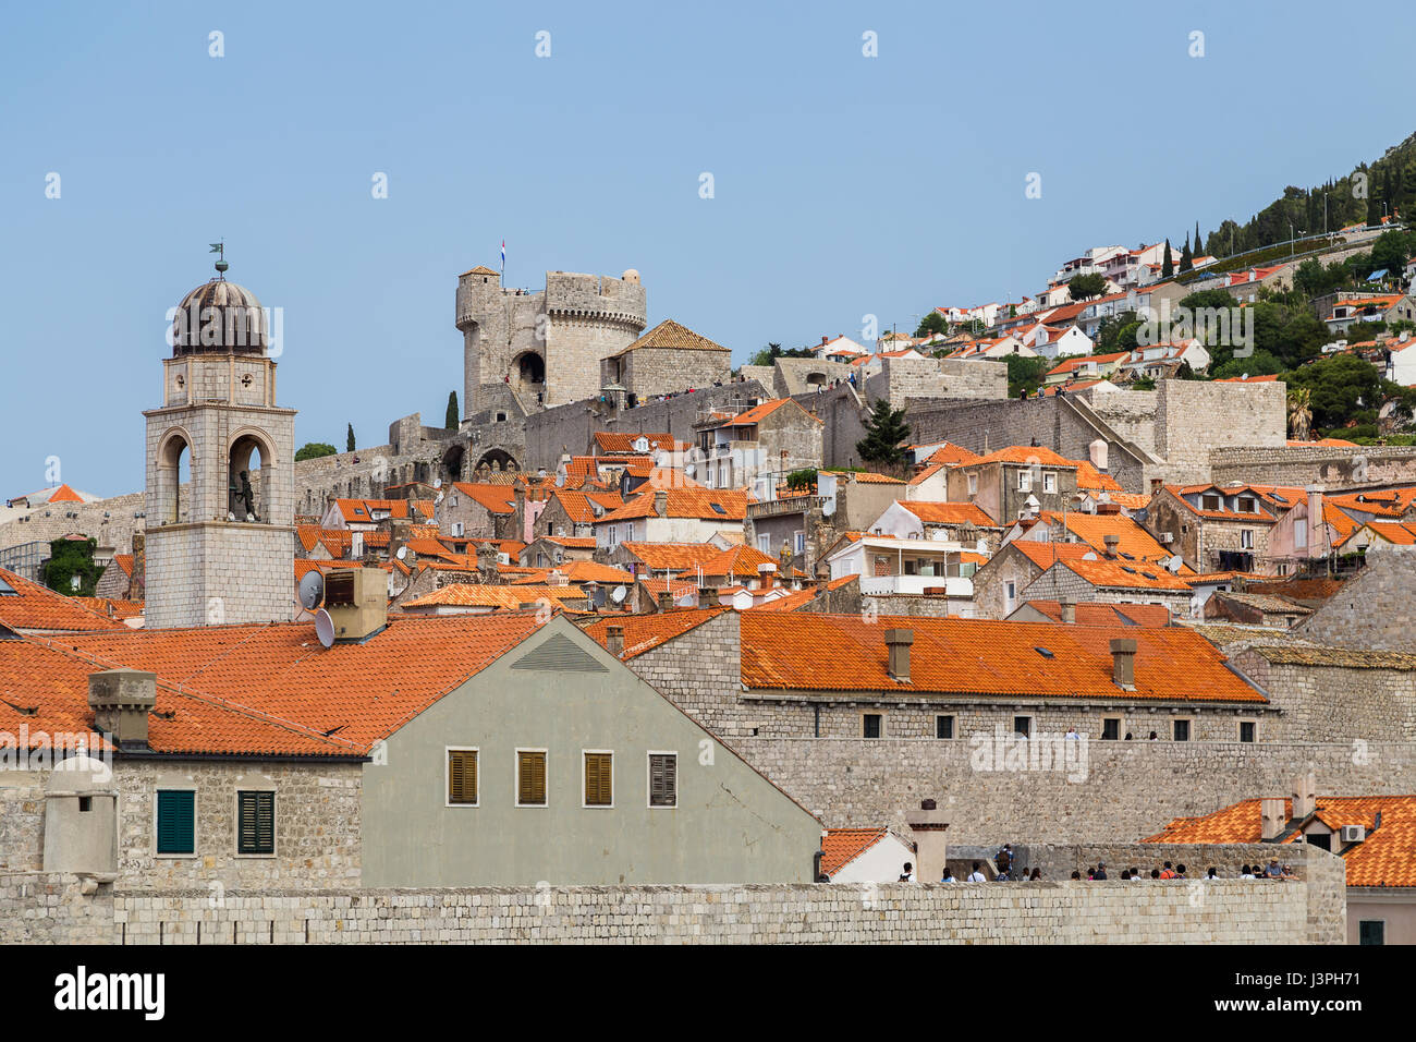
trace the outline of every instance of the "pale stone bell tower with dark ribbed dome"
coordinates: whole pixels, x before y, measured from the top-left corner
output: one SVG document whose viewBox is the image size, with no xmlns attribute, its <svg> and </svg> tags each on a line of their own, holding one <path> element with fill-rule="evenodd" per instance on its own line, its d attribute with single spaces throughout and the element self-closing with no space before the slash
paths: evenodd
<svg viewBox="0 0 1416 1042">
<path fill-rule="evenodd" d="M 295 617 L 295 410 L 275 404 L 261 302 L 227 267 L 177 306 L 163 404 L 143 413 L 150 629 Z"/>
</svg>

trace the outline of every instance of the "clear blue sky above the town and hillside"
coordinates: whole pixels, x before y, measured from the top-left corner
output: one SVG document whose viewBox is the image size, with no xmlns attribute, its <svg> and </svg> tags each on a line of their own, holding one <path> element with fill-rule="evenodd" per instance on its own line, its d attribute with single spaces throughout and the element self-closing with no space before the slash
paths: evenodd
<svg viewBox="0 0 1416 1042">
<path fill-rule="evenodd" d="M 365 445 L 442 421 L 456 276 L 503 238 L 507 285 L 639 268 L 650 322 L 741 362 L 1037 292 L 1083 248 L 1246 220 L 1416 129 L 1410 7 L 1341 37 L 1331 4 L 1131 9 L 11 4 L 0 493 L 48 456 L 142 488 L 163 316 L 218 238 L 285 310 L 296 442 L 343 448 L 350 421 Z"/>
</svg>

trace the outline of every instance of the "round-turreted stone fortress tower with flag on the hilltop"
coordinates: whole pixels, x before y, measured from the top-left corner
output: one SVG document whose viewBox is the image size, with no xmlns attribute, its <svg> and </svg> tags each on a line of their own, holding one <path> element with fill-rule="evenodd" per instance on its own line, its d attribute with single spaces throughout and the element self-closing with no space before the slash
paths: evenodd
<svg viewBox="0 0 1416 1042">
<path fill-rule="evenodd" d="M 476 267 L 457 279 L 463 335 L 463 417 L 527 414 L 600 393 L 600 359 L 644 330 L 644 286 L 620 278 L 548 271 L 545 289 L 504 289 Z M 520 405 L 520 408 L 517 408 Z"/>
</svg>

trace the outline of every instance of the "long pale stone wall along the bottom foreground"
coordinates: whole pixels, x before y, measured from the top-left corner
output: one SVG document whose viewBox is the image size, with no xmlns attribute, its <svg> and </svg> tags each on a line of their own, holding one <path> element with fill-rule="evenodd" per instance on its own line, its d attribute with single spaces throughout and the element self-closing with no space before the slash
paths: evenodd
<svg viewBox="0 0 1416 1042">
<path fill-rule="evenodd" d="M 1296 853 L 1298 879 L 1231 879 L 1198 892 L 1187 882 L 1117 880 L 228 890 L 217 897 L 207 890 L 115 895 L 101 886 L 85 896 L 74 876 L 3 875 L 0 943 L 1344 943 L 1341 859 Z"/>
</svg>

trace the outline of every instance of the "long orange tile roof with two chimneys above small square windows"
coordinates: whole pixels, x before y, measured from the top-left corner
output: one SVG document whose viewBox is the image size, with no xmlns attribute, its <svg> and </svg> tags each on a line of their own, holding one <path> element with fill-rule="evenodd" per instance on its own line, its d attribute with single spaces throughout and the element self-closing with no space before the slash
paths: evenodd
<svg viewBox="0 0 1416 1042">
<path fill-rule="evenodd" d="M 742 612 L 742 682 L 753 690 L 854 690 L 1164 702 L 1267 699 L 1182 627 L 1079 627 L 809 611 Z M 888 673 L 885 631 L 910 629 L 910 682 Z M 1134 690 L 1112 679 L 1109 641 L 1134 639 Z M 1051 655 L 1038 651 L 1044 648 Z"/>
</svg>

